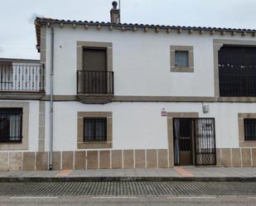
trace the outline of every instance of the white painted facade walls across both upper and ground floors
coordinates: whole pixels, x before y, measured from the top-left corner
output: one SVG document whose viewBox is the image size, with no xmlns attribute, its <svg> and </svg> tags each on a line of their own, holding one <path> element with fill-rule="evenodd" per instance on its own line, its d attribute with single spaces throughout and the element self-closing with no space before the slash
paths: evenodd
<svg viewBox="0 0 256 206">
<path fill-rule="evenodd" d="M 54 95 L 76 95 L 77 41 L 113 43 L 114 95 L 214 97 L 213 40 L 252 41 L 250 36 L 210 36 L 173 31 L 109 31 L 54 26 Z M 171 72 L 170 46 L 193 46 L 194 72 Z M 46 95 L 50 94 L 51 28 L 46 27 Z M 13 100 L 14 101 L 14 100 Z M 18 101 L 18 100 L 17 100 Z M 25 101 L 25 100 L 24 100 Z M 38 150 L 39 101 L 29 102 L 29 147 Z M 138 102 L 85 104 L 54 102 L 53 151 L 77 151 L 77 113 L 113 113 L 113 150 L 168 149 L 168 113 L 199 113 L 215 118 L 217 148 L 239 147 L 238 113 L 256 113 L 256 103 Z M 50 106 L 46 101 L 45 151 L 49 151 Z"/>
</svg>

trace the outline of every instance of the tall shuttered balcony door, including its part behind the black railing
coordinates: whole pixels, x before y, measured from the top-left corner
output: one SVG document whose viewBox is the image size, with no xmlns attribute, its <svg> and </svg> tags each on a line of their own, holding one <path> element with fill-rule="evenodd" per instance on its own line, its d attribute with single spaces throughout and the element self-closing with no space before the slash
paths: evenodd
<svg viewBox="0 0 256 206">
<path fill-rule="evenodd" d="M 84 93 L 107 92 L 107 52 L 106 49 L 84 48 L 83 70 L 85 70 Z"/>
</svg>

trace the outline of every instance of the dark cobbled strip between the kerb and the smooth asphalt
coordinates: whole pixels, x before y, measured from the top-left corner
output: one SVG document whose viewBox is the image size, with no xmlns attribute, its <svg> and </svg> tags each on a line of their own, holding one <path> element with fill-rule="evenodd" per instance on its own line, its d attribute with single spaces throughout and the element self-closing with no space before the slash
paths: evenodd
<svg viewBox="0 0 256 206">
<path fill-rule="evenodd" d="M 2 196 L 256 196 L 256 182 L 2 182 Z M 1 205 L 0 205 L 1 206 Z"/>
</svg>

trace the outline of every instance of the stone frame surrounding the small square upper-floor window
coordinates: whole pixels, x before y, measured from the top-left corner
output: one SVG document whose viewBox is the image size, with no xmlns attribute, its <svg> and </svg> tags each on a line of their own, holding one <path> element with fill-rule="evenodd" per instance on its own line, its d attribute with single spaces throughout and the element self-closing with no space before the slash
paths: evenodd
<svg viewBox="0 0 256 206">
<path fill-rule="evenodd" d="M 188 53 L 188 65 L 176 65 L 176 51 Z M 171 72 L 194 72 L 194 51 L 193 46 L 170 46 Z"/>
</svg>

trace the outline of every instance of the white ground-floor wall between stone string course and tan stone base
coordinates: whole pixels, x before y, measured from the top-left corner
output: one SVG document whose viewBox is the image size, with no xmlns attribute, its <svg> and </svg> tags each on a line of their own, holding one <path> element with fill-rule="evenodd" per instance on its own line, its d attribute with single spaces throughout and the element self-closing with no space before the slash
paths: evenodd
<svg viewBox="0 0 256 206">
<path fill-rule="evenodd" d="M 167 112 L 199 113 L 215 118 L 216 146 L 239 147 L 238 113 L 256 113 L 256 103 L 206 103 L 210 113 L 202 113 L 201 103 L 54 103 L 54 151 L 75 151 L 77 112 L 113 112 L 113 149 L 167 148 Z M 48 108 L 48 103 L 46 103 Z M 49 113 L 46 109 L 46 150 L 49 148 Z"/>
</svg>

